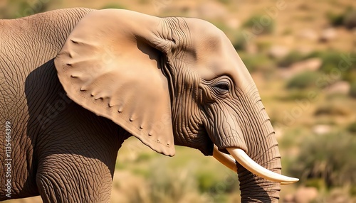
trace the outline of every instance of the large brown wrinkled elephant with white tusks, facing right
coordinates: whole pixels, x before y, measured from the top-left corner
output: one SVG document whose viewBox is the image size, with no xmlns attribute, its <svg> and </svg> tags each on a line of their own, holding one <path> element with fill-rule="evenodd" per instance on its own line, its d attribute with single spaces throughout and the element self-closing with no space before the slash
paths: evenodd
<svg viewBox="0 0 356 203">
<path fill-rule="evenodd" d="M 108 202 L 130 136 L 213 155 L 238 172 L 243 202 L 298 181 L 280 174 L 256 85 L 211 23 L 63 9 L 0 21 L 0 44 L 0 200 Z"/>
</svg>

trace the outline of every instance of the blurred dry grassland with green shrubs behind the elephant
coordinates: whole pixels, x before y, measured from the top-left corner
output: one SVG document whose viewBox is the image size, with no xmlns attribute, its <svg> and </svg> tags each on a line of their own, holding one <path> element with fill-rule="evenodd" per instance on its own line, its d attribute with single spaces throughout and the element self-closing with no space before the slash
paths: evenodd
<svg viewBox="0 0 356 203">
<path fill-rule="evenodd" d="M 280 202 L 356 202 L 356 1 L 0 0 L 0 18 L 77 6 L 214 23 L 257 84 L 283 174 L 300 178 L 281 187 Z M 176 149 L 168 158 L 125 141 L 112 202 L 240 202 L 234 172 L 198 150 Z"/>
</svg>

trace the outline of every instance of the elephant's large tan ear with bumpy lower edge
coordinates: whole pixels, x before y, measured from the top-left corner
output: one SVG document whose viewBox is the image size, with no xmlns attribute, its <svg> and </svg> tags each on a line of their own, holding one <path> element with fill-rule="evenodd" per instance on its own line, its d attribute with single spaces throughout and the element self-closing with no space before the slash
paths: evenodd
<svg viewBox="0 0 356 203">
<path fill-rule="evenodd" d="M 111 119 L 158 153 L 172 156 L 169 89 L 159 62 L 162 53 L 148 44 L 150 39 L 121 22 L 125 17 L 112 10 L 85 16 L 54 61 L 59 80 L 77 104 Z"/>
</svg>

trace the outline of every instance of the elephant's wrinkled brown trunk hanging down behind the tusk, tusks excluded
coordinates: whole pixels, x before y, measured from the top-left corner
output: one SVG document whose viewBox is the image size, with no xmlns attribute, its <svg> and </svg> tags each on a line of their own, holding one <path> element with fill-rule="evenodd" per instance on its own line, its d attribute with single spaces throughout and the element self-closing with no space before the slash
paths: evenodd
<svg viewBox="0 0 356 203">
<path fill-rule="evenodd" d="M 256 92 L 252 95 L 256 95 Z M 254 102 L 251 104 L 248 101 Z M 246 103 L 250 104 L 247 106 L 250 106 L 252 114 L 255 115 L 250 116 L 250 121 L 248 121 L 252 124 L 250 126 L 252 131 L 248 131 L 246 128 L 243 130 L 248 155 L 261 167 L 280 175 L 281 155 L 271 121 L 259 96 L 255 99 L 249 98 L 248 101 Z M 242 163 L 236 164 L 240 181 L 241 202 L 278 202 L 281 190 L 279 182 L 281 181 L 267 180 L 256 172 L 246 169 L 246 165 L 244 167 L 241 165 Z"/>
</svg>

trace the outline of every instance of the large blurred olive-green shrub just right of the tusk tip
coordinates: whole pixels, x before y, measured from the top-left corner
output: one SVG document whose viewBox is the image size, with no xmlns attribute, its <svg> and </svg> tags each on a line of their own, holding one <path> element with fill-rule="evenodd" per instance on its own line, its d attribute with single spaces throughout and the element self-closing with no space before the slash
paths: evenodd
<svg viewBox="0 0 356 203">
<path fill-rule="evenodd" d="M 310 136 L 290 172 L 301 182 L 321 179 L 327 187 L 356 184 L 356 137 L 347 133 Z"/>
</svg>

